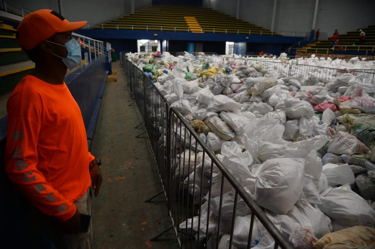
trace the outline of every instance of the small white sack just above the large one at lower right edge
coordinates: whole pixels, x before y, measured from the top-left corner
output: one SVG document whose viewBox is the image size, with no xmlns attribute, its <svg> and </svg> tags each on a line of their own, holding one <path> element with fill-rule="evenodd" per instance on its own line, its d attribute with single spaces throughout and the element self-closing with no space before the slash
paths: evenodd
<svg viewBox="0 0 375 249">
<path fill-rule="evenodd" d="M 356 180 L 348 163 L 342 165 L 327 163 L 323 165 L 323 174 L 327 177 L 331 186 L 344 185 L 346 183 L 352 184 Z"/>
</svg>

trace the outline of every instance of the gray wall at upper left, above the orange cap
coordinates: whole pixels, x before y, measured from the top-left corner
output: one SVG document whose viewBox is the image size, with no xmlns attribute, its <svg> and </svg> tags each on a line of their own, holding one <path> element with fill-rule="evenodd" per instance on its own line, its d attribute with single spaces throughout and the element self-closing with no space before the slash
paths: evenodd
<svg viewBox="0 0 375 249">
<path fill-rule="evenodd" d="M 63 16 L 69 21 L 99 24 L 130 12 L 130 0 L 60 0 Z M 57 0 L 12 0 L 30 10 L 53 9 L 58 12 Z M 134 0 L 134 9 L 151 5 L 152 0 Z"/>
</svg>

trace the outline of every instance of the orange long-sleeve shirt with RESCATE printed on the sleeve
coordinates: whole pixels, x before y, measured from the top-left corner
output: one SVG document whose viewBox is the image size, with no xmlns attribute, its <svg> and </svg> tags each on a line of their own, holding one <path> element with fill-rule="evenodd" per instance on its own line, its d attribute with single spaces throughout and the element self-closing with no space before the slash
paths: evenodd
<svg viewBox="0 0 375 249">
<path fill-rule="evenodd" d="M 7 101 L 5 171 L 42 213 L 70 219 L 91 185 L 81 110 L 66 84 L 27 75 Z"/>
</svg>

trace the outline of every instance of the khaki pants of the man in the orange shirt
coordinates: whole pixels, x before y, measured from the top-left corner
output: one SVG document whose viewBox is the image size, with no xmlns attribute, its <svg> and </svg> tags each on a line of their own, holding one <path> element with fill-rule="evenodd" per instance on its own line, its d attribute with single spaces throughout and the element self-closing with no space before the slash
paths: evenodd
<svg viewBox="0 0 375 249">
<path fill-rule="evenodd" d="M 87 192 L 77 201 L 77 212 L 80 214 L 91 215 L 91 191 Z M 57 249 L 90 249 L 92 246 L 93 233 L 92 221 L 90 220 L 89 231 L 87 233 L 63 234 L 53 232 L 49 234 Z"/>
</svg>

